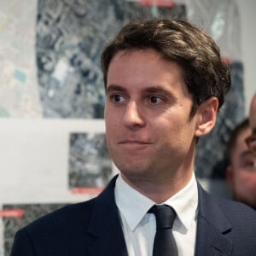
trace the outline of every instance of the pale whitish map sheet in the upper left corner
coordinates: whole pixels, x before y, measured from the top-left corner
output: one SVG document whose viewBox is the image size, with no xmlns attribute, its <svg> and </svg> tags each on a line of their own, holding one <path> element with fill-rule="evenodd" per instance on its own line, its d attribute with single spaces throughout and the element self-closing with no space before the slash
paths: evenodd
<svg viewBox="0 0 256 256">
<path fill-rule="evenodd" d="M 37 1 L 0 1 L 0 118 L 41 118 L 36 65 Z"/>
</svg>

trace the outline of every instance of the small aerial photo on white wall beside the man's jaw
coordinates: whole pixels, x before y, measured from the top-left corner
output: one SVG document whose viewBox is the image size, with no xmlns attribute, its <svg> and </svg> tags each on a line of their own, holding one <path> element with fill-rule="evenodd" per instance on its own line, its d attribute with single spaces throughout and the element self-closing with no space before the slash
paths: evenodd
<svg viewBox="0 0 256 256">
<path fill-rule="evenodd" d="M 69 189 L 100 191 L 113 177 L 105 134 L 71 133 L 68 160 Z"/>
</svg>

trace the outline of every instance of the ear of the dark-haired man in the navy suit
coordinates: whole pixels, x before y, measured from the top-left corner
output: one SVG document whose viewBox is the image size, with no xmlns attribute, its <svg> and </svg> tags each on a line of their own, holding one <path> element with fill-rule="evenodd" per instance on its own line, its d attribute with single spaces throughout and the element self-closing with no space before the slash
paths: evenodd
<svg viewBox="0 0 256 256">
<path fill-rule="evenodd" d="M 201 137 L 212 131 L 216 123 L 217 111 L 218 99 L 216 97 L 211 97 L 207 101 L 201 102 L 196 111 L 198 117 L 195 129 L 196 137 Z"/>
</svg>

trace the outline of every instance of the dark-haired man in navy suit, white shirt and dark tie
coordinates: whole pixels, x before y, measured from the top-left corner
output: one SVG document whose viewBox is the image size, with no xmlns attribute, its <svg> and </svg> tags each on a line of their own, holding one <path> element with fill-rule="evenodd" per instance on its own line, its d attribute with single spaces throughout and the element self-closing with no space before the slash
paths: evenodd
<svg viewBox="0 0 256 256">
<path fill-rule="evenodd" d="M 181 20 L 134 21 L 104 49 L 102 71 L 108 150 L 120 174 L 95 199 L 18 231 L 11 255 L 160 256 L 169 241 L 172 255 L 256 255 L 256 213 L 195 180 L 197 140 L 230 89 L 212 38 Z M 164 226 L 166 213 L 155 209 L 174 222 Z M 157 247 L 160 233 L 170 239 Z"/>
</svg>

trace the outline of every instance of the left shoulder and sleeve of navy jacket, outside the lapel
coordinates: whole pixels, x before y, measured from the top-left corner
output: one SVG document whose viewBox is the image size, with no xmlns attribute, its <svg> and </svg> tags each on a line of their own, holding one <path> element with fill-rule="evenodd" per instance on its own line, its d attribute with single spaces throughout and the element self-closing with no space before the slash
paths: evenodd
<svg viewBox="0 0 256 256">
<path fill-rule="evenodd" d="M 26 225 L 15 234 L 11 255 L 64 255 L 67 250 L 80 255 L 90 242 L 85 236 L 94 203 L 67 205 Z"/>
</svg>

